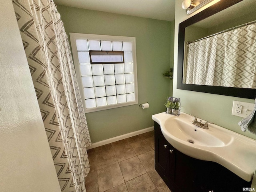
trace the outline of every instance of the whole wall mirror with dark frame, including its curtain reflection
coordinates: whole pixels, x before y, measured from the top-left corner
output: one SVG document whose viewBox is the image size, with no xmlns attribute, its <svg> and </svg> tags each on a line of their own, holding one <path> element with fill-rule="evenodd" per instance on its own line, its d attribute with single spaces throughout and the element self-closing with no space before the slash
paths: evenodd
<svg viewBox="0 0 256 192">
<path fill-rule="evenodd" d="M 177 88 L 255 99 L 255 0 L 220 0 L 179 24 Z"/>
</svg>

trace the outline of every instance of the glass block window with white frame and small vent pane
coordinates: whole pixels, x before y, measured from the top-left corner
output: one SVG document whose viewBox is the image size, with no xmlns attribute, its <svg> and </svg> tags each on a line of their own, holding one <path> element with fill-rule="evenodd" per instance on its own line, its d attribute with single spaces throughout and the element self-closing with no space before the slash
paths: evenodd
<svg viewBox="0 0 256 192">
<path fill-rule="evenodd" d="M 70 33 L 70 41 L 85 112 L 138 104 L 135 38 Z"/>
</svg>

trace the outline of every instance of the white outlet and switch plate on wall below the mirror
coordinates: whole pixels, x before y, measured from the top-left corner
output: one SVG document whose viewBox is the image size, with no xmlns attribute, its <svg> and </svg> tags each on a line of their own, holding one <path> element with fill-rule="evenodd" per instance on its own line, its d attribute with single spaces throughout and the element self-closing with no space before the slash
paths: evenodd
<svg viewBox="0 0 256 192">
<path fill-rule="evenodd" d="M 253 108 L 254 103 L 233 101 L 232 115 L 239 117 L 247 117 L 251 114 Z"/>
</svg>

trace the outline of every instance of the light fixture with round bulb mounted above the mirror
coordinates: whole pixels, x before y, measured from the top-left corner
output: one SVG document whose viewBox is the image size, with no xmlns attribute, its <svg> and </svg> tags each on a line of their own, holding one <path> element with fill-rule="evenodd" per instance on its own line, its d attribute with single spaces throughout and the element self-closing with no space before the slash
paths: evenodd
<svg viewBox="0 0 256 192">
<path fill-rule="evenodd" d="M 212 1 L 214 0 L 184 0 L 181 6 L 186 10 L 186 14 L 191 14 Z"/>
</svg>

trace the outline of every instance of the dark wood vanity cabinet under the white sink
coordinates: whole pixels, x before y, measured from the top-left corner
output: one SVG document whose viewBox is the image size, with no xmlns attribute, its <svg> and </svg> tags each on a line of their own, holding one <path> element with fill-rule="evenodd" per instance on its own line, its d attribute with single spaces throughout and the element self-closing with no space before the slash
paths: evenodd
<svg viewBox="0 0 256 192">
<path fill-rule="evenodd" d="M 250 187 L 218 163 L 198 160 L 176 150 L 154 122 L 155 169 L 172 192 L 242 192 Z"/>
</svg>

